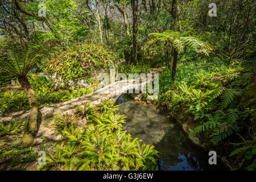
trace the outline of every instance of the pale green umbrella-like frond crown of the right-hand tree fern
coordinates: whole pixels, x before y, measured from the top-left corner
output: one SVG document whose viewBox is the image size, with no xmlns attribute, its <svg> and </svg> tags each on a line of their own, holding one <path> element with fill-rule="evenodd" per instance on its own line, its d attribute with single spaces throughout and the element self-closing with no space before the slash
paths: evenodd
<svg viewBox="0 0 256 182">
<path fill-rule="evenodd" d="M 189 36 L 189 32 L 167 30 L 162 33 L 152 33 L 150 35 L 154 36 L 155 39 L 150 40 L 148 44 L 158 41 L 171 42 L 178 53 L 183 52 L 185 46 L 192 49 L 202 49 L 207 55 L 210 50 L 212 50 L 208 43 L 203 42 L 194 36 Z"/>
</svg>

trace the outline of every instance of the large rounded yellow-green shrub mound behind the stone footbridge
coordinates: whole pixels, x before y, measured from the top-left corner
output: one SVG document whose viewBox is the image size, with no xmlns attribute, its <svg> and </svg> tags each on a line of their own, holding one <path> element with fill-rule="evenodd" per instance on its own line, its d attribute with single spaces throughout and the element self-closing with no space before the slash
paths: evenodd
<svg viewBox="0 0 256 182">
<path fill-rule="evenodd" d="M 69 80 L 89 80 L 93 73 L 117 63 L 117 56 L 108 48 L 98 44 L 73 46 L 53 57 L 47 64 L 47 71 Z"/>
</svg>

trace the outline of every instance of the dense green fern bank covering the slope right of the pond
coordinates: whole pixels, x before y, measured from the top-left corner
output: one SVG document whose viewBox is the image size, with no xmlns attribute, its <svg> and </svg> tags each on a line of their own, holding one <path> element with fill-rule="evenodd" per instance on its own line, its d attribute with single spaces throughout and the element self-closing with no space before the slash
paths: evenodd
<svg viewBox="0 0 256 182">
<path fill-rule="evenodd" d="M 193 68 L 193 69 L 188 69 Z M 255 85 L 255 68 L 237 62 L 228 67 L 225 63 L 192 62 L 177 68 L 179 82 L 173 84 L 170 72 L 163 70 L 160 79 L 160 96 L 158 103 L 167 106 L 176 115 L 182 111 L 193 116 L 193 131 L 190 135 L 204 133 L 214 145 L 227 140 L 234 146 L 241 146 L 231 152 L 230 156 L 246 156 L 247 169 L 255 169 L 255 94 L 251 89 Z M 169 81 L 170 84 L 166 84 Z M 164 86 L 168 85 L 168 86 Z M 250 93 L 250 95 L 249 95 Z M 246 100 L 246 102 L 245 102 Z M 247 140 L 240 133 L 246 133 Z M 242 143 L 230 137 L 237 134 Z M 247 158 L 248 156 L 248 158 Z M 239 164 L 242 167 L 245 159 Z M 249 162 L 250 161 L 250 162 Z M 250 165 L 248 165 L 250 164 Z"/>
</svg>

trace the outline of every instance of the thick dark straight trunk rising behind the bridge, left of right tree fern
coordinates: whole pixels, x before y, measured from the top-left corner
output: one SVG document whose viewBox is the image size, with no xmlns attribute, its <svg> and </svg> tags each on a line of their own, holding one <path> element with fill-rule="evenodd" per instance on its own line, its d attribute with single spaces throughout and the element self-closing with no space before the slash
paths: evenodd
<svg viewBox="0 0 256 182">
<path fill-rule="evenodd" d="M 137 42 L 137 29 L 138 29 L 138 0 L 131 0 L 133 9 L 133 60 L 138 64 L 138 42 Z"/>
</svg>

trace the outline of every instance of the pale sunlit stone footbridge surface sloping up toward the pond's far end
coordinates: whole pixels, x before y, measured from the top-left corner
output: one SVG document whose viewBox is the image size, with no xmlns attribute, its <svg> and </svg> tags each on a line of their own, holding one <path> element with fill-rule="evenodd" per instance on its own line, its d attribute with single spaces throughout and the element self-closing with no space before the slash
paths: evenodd
<svg viewBox="0 0 256 182">
<path fill-rule="evenodd" d="M 86 94 L 85 96 L 81 96 L 67 102 L 62 102 L 60 104 L 42 107 L 39 109 L 39 113 L 42 118 L 49 113 L 72 114 L 77 106 L 84 106 L 86 102 L 90 103 L 90 105 L 97 105 L 100 104 L 102 100 L 107 100 L 109 98 L 112 98 L 115 101 L 119 96 L 121 96 L 122 93 L 126 93 L 129 89 L 137 90 L 137 92 L 141 91 L 144 86 L 146 87 L 148 81 L 150 80 L 148 80 L 146 77 L 139 77 L 134 80 L 117 81 L 105 86 L 104 88 L 98 89 L 93 93 Z M 132 82 L 134 82 L 134 84 L 129 84 Z M 28 114 L 29 111 L 19 111 L 6 116 L 3 115 L 0 117 L 0 122 L 10 121 L 11 119 L 15 118 L 26 119 Z"/>
</svg>

